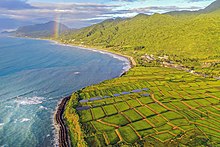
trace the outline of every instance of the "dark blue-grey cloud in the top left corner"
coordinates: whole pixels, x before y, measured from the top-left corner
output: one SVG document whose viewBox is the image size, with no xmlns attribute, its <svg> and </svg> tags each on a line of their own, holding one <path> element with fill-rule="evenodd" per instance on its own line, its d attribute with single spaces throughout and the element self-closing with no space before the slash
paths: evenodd
<svg viewBox="0 0 220 147">
<path fill-rule="evenodd" d="M 0 8 L 8 10 L 33 9 L 35 7 L 22 0 L 1 0 Z"/>
</svg>

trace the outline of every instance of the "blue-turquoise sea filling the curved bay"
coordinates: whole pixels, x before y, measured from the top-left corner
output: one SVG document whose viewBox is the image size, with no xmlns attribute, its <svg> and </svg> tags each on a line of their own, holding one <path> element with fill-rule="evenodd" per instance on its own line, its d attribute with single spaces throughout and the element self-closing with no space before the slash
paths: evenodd
<svg viewBox="0 0 220 147">
<path fill-rule="evenodd" d="M 0 146 L 54 146 L 61 98 L 126 68 L 126 59 L 110 54 L 0 37 Z"/>
</svg>

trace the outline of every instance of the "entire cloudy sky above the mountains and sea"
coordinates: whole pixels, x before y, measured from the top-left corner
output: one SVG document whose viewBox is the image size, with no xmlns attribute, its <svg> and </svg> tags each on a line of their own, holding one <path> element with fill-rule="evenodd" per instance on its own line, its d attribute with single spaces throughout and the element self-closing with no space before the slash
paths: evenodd
<svg viewBox="0 0 220 147">
<path fill-rule="evenodd" d="M 48 21 L 70 28 L 139 13 L 203 9 L 215 0 L 0 0 L 0 31 Z"/>
</svg>

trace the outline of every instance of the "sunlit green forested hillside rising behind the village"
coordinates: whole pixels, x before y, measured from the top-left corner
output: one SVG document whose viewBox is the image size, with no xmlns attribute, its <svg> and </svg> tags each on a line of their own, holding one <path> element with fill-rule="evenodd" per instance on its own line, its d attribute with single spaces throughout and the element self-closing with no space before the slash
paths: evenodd
<svg viewBox="0 0 220 147">
<path fill-rule="evenodd" d="M 168 55 L 171 60 L 187 65 L 207 60 L 219 63 L 219 0 L 199 12 L 190 15 L 139 14 L 129 19 L 106 20 L 64 34 L 59 39 L 63 43 L 118 51 L 136 60 L 153 54 Z"/>
</svg>

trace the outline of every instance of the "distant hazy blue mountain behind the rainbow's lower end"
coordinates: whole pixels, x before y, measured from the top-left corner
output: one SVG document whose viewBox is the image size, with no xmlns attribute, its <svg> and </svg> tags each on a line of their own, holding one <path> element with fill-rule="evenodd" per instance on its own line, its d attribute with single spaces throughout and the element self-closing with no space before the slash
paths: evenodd
<svg viewBox="0 0 220 147">
<path fill-rule="evenodd" d="M 50 37 L 59 35 L 70 30 L 67 26 L 56 21 L 50 21 L 43 24 L 23 26 L 16 30 L 16 36 L 25 37 Z"/>
</svg>

